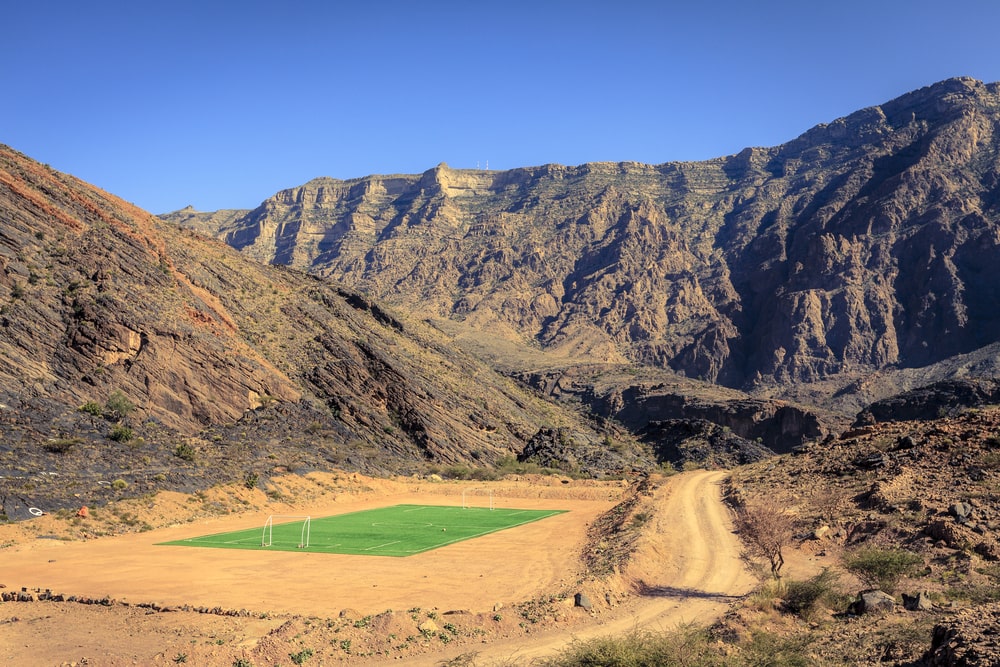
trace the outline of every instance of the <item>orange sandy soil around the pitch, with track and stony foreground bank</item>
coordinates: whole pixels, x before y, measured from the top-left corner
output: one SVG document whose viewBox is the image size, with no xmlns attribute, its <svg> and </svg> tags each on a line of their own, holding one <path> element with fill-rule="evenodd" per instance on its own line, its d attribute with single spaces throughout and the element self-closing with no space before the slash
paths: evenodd
<svg viewBox="0 0 1000 667">
<path fill-rule="evenodd" d="M 107 508 L 84 520 L 45 516 L 0 526 L 3 591 L 115 600 L 0 604 L 0 663 L 183 659 L 228 667 L 243 659 L 261 667 L 290 664 L 290 656 L 308 649 L 306 664 L 434 665 L 470 651 L 479 653 L 478 664 L 489 664 L 545 655 L 595 632 L 709 620 L 729 596 L 751 585 L 719 502 L 721 477 L 688 473 L 667 480 L 627 575 L 600 583 L 588 583 L 580 555 L 587 527 L 623 497 L 621 482 L 492 483 L 497 506 L 569 512 L 402 559 L 157 543 L 262 526 L 272 512 L 325 516 L 401 502 L 458 504 L 470 483 L 310 475 L 283 478 L 267 496 L 226 489 L 130 501 L 118 514 L 144 525 L 143 532 L 94 538 L 113 532 Z M 590 613 L 573 607 L 574 590 L 595 598 Z M 537 618 L 515 611 L 542 598 L 554 604 Z M 199 613 L 198 607 L 249 614 Z M 427 621 L 430 629 L 418 629 Z"/>
</svg>

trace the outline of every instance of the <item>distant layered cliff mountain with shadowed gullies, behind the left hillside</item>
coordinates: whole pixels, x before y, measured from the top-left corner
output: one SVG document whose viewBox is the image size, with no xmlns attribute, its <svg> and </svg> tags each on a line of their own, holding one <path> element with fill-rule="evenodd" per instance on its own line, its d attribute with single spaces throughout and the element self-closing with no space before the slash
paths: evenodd
<svg viewBox="0 0 1000 667">
<path fill-rule="evenodd" d="M 839 388 L 1000 338 L 998 124 L 951 79 L 701 163 L 316 179 L 218 233 L 556 355 Z"/>
</svg>

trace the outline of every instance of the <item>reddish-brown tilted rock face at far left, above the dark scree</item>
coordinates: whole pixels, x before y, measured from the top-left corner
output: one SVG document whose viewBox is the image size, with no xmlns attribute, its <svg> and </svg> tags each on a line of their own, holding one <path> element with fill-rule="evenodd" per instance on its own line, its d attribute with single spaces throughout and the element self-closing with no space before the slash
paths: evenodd
<svg viewBox="0 0 1000 667">
<path fill-rule="evenodd" d="M 261 396 L 298 400 L 175 261 L 157 224 L 0 147 L 5 390 L 70 405 L 123 391 L 141 397 L 141 414 L 182 432 L 235 420 Z"/>
</svg>

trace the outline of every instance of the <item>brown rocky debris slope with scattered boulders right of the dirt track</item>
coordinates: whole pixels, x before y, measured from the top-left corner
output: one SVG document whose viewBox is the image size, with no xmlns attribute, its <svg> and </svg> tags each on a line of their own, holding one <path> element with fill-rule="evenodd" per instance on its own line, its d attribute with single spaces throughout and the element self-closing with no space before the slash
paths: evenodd
<svg viewBox="0 0 1000 667">
<path fill-rule="evenodd" d="M 984 406 L 870 424 L 733 472 L 739 503 L 766 498 L 792 515 L 792 560 L 835 575 L 827 583 L 839 596 L 834 606 L 787 630 L 817 664 L 994 664 L 998 434 L 1000 409 Z M 845 556 L 866 549 L 917 556 L 895 590 L 871 601 L 885 605 L 877 613 L 844 568 Z M 801 575 L 786 576 L 789 590 L 803 590 L 792 581 Z"/>
</svg>

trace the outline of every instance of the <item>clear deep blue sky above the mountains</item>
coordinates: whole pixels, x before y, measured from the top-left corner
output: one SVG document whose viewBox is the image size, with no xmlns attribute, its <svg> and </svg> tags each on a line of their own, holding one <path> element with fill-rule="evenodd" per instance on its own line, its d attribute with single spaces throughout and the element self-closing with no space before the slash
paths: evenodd
<svg viewBox="0 0 1000 667">
<path fill-rule="evenodd" d="M 995 0 L 37 0 L 0 24 L 0 143 L 154 213 L 439 162 L 702 160 L 1000 80 Z"/>
</svg>

